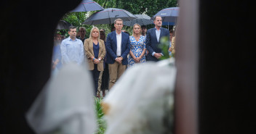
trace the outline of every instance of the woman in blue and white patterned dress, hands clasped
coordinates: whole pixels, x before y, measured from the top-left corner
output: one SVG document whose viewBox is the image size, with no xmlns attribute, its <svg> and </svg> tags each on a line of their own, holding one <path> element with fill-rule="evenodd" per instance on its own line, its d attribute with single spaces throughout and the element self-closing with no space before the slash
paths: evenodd
<svg viewBox="0 0 256 134">
<path fill-rule="evenodd" d="M 145 63 L 145 37 L 141 35 L 139 24 L 133 25 L 129 41 L 131 49 L 128 55 L 127 67 L 132 67 L 135 63 Z"/>
</svg>

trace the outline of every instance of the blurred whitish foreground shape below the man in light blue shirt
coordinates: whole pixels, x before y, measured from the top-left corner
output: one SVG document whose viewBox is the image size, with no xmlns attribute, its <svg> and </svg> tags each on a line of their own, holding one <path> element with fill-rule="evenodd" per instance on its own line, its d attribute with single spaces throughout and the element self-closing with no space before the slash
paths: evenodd
<svg viewBox="0 0 256 134">
<path fill-rule="evenodd" d="M 96 115 L 92 78 L 86 67 L 66 64 L 49 79 L 26 118 L 37 134 L 92 134 Z"/>
</svg>

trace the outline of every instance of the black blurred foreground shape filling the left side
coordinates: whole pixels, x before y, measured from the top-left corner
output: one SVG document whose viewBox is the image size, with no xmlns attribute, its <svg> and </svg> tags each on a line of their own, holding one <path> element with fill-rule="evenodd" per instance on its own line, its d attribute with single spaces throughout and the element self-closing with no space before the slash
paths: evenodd
<svg viewBox="0 0 256 134">
<path fill-rule="evenodd" d="M 49 78 L 57 22 L 79 2 L 1 1 L 1 134 L 33 133 L 25 113 Z"/>
</svg>

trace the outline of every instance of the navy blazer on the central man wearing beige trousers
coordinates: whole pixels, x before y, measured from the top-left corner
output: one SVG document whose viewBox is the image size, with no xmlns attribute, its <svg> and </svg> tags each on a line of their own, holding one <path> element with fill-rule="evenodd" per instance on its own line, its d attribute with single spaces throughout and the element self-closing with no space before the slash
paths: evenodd
<svg viewBox="0 0 256 134">
<path fill-rule="evenodd" d="M 108 33 L 107 42 L 107 63 L 113 64 L 116 59 L 116 30 Z M 127 33 L 121 32 L 121 56 L 124 58 L 121 63 L 123 65 L 128 64 L 127 55 L 129 54 L 129 35 Z"/>
</svg>

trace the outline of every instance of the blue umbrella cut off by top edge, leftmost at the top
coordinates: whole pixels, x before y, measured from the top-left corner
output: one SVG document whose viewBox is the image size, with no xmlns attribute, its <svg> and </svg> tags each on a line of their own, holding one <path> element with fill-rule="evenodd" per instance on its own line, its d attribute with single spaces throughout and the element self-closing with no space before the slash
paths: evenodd
<svg viewBox="0 0 256 134">
<path fill-rule="evenodd" d="M 88 12 L 88 11 L 96 11 L 103 10 L 104 8 L 97 4 L 95 1 L 91 0 L 83 0 L 81 4 L 76 7 L 76 9 L 71 10 L 71 12 Z"/>
</svg>

